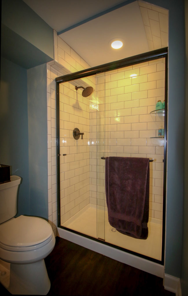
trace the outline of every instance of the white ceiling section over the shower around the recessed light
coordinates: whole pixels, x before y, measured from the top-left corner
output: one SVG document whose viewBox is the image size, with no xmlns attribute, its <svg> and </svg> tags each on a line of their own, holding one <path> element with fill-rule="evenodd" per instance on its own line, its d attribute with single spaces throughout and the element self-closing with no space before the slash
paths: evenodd
<svg viewBox="0 0 188 296">
<path fill-rule="evenodd" d="M 60 37 L 90 66 L 149 51 L 137 1 L 62 33 Z M 113 38 L 124 40 L 121 49 L 110 46 Z"/>
</svg>

